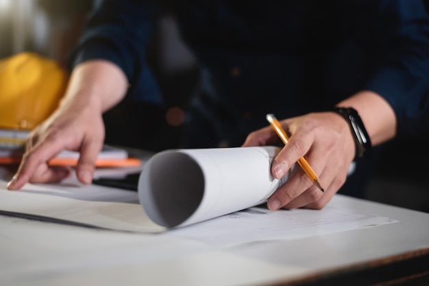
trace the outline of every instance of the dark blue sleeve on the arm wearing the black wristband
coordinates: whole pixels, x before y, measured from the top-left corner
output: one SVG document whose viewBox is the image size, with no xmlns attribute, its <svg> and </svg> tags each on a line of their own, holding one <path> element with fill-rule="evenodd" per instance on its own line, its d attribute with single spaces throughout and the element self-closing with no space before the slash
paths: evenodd
<svg viewBox="0 0 429 286">
<path fill-rule="evenodd" d="M 429 131 L 429 17 L 422 0 L 351 1 L 350 31 L 371 59 L 363 88 L 393 107 L 397 135 Z"/>
</svg>

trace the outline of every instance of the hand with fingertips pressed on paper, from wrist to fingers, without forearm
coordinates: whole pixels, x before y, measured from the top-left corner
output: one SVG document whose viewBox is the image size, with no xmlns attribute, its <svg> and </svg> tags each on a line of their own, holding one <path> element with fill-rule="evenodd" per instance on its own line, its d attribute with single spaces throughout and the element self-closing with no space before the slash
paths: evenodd
<svg viewBox="0 0 429 286">
<path fill-rule="evenodd" d="M 92 106 L 70 107 L 54 113 L 30 133 L 23 160 L 8 184 L 8 190 L 20 189 L 27 182 L 56 183 L 68 177 L 70 168 L 50 167 L 47 164 L 49 159 L 63 150 L 80 153 L 76 166 L 77 178 L 82 183 L 91 183 L 103 140 L 101 112 Z"/>
</svg>

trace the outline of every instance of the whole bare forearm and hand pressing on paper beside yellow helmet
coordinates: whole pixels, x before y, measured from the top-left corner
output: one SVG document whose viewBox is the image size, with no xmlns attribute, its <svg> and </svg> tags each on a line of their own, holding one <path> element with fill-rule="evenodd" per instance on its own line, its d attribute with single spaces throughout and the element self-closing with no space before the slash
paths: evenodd
<svg viewBox="0 0 429 286">
<path fill-rule="evenodd" d="M 18 190 L 27 182 L 55 183 L 68 177 L 70 168 L 48 165 L 63 150 L 80 153 L 77 178 L 91 183 L 105 135 L 102 114 L 119 103 L 126 90 L 125 74 L 110 62 L 92 60 L 77 66 L 58 109 L 30 133 L 8 190 Z"/>
</svg>

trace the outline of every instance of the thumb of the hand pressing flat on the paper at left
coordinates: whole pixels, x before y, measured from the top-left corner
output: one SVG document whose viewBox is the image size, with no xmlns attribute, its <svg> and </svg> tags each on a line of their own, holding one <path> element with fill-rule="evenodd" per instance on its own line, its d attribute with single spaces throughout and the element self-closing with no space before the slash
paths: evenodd
<svg viewBox="0 0 429 286">
<path fill-rule="evenodd" d="M 84 142 L 80 150 L 79 161 L 76 166 L 76 176 L 79 181 L 85 184 L 90 184 L 93 181 L 95 170 L 95 161 L 103 144 L 95 142 Z"/>
</svg>

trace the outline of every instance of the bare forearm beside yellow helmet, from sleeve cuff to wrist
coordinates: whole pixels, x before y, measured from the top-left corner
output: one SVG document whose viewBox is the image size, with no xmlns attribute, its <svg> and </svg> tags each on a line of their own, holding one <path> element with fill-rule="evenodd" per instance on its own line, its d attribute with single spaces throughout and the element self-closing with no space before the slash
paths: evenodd
<svg viewBox="0 0 429 286">
<path fill-rule="evenodd" d="M 123 71 L 106 60 L 90 60 L 76 66 L 60 109 L 91 107 L 106 112 L 125 96 L 127 78 Z"/>
</svg>

